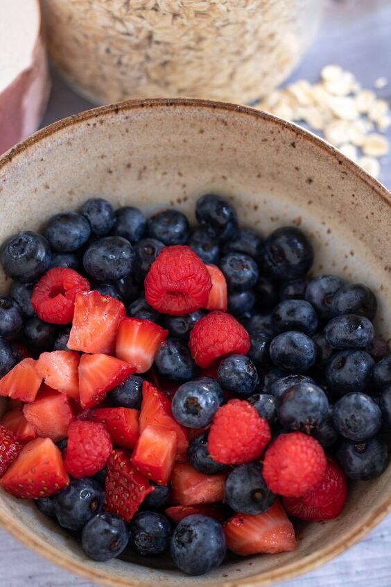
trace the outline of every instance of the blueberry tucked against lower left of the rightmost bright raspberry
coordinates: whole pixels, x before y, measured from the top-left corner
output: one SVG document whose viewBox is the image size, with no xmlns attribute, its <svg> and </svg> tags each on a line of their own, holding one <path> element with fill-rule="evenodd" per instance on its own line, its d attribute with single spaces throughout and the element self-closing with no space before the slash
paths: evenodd
<svg viewBox="0 0 391 587">
<path fill-rule="evenodd" d="M 225 501 L 238 513 L 255 515 L 272 506 L 275 494 L 262 477 L 260 463 L 246 463 L 236 467 L 225 480 Z"/>
</svg>

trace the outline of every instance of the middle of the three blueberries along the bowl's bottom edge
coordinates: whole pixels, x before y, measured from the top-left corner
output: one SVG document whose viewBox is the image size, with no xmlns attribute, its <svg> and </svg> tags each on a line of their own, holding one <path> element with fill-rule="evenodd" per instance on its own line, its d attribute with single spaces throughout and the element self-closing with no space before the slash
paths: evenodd
<svg viewBox="0 0 391 587">
<path fill-rule="evenodd" d="M 163 554 L 170 547 L 171 526 L 155 511 L 141 511 L 130 522 L 130 540 L 140 554 Z"/>
</svg>

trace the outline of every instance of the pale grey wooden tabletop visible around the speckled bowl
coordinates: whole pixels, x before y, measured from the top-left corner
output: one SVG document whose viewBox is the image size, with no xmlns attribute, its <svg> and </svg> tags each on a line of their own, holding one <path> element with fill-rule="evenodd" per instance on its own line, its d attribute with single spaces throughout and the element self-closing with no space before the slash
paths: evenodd
<svg viewBox="0 0 391 587">
<path fill-rule="evenodd" d="M 289 81 L 315 81 L 323 65 L 338 63 L 354 72 L 365 88 L 385 76 L 378 90 L 391 101 L 391 0 L 327 0 L 322 30 Z M 90 108 L 57 77 L 44 124 Z M 391 188 L 391 157 L 383 158 L 381 181 Z M 281 587 L 390 587 L 391 517 L 345 554 Z M 0 530 L 1 587 L 93 587 L 56 568 Z"/>
</svg>

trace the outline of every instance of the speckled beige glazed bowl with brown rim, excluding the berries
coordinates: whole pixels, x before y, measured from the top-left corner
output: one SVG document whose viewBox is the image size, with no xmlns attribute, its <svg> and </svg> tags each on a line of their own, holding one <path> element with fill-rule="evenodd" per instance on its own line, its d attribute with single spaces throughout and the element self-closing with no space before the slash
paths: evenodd
<svg viewBox="0 0 391 587">
<path fill-rule="evenodd" d="M 315 245 L 313 273 L 363 281 L 379 297 L 377 328 L 390 336 L 390 194 L 313 135 L 251 108 L 206 101 L 144 101 L 72 117 L 0 159 L 0 242 L 40 229 L 49 216 L 101 196 L 146 213 L 197 197 L 232 199 L 241 223 L 265 235 L 296 224 Z M 0 275 L 1 292 L 9 281 Z M 351 484 L 342 515 L 297 529 L 298 547 L 234 559 L 205 577 L 114 560 L 95 563 L 31 503 L 0 492 L 0 523 L 51 561 L 111 586 L 261 586 L 309 570 L 342 552 L 390 509 L 391 467 Z"/>
</svg>

